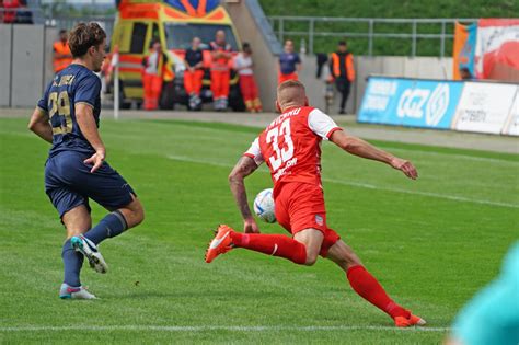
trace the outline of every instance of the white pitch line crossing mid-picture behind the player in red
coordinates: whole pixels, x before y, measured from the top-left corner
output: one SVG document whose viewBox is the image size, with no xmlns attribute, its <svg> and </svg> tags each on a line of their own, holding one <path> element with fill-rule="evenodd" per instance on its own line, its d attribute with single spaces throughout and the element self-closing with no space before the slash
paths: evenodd
<svg viewBox="0 0 519 345">
<path fill-rule="evenodd" d="M 172 160 L 177 160 L 177 161 L 207 164 L 207 165 L 214 165 L 214 166 L 223 166 L 223 168 L 233 168 L 234 166 L 234 165 L 227 164 L 227 163 L 205 161 L 205 160 L 189 158 L 189 157 L 183 157 L 183 156 L 171 156 L 170 154 L 170 156 L 168 156 L 168 158 L 172 159 Z M 368 184 L 368 183 L 350 182 L 350 181 L 343 181 L 343 180 L 335 180 L 335 179 L 327 179 L 327 177 L 323 177 L 322 180 L 324 182 L 332 182 L 332 183 L 337 183 L 337 184 L 353 186 L 353 187 L 387 191 L 387 192 L 403 193 L 403 194 L 411 194 L 411 195 L 422 195 L 422 196 L 428 196 L 428 197 L 435 197 L 435 198 L 448 199 L 448 200 L 461 202 L 461 203 L 472 203 L 472 204 L 480 204 L 480 205 L 491 205 L 491 206 L 499 206 L 499 207 L 519 208 L 519 205 L 510 204 L 510 203 L 492 202 L 492 200 L 486 200 L 486 199 L 473 199 L 473 198 L 469 198 L 469 197 L 464 197 L 464 196 L 448 195 L 448 194 L 431 193 L 431 192 L 420 192 L 420 191 L 408 191 L 408 189 L 402 189 L 402 188 L 383 187 L 383 186 L 376 186 L 376 185 Z"/>
</svg>

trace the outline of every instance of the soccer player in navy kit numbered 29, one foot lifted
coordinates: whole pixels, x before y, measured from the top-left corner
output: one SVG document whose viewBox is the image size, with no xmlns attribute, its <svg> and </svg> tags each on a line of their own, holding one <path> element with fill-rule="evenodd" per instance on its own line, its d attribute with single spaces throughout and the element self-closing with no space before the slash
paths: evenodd
<svg viewBox="0 0 519 345">
<path fill-rule="evenodd" d="M 96 23 L 80 23 L 69 36 L 73 61 L 56 74 L 35 108 L 28 128 L 53 143 L 45 164 L 45 192 L 67 229 L 65 278 L 59 297 L 94 299 L 80 281 L 83 257 L 99 273 L 107 265 L 97 244 L 139 225 L 142 206 L 128 183 L 105 162 L 97 131 L 101 70 L 106 34 Z M 92 227 L 89 198 L 111 211 Z"/>
</svg>

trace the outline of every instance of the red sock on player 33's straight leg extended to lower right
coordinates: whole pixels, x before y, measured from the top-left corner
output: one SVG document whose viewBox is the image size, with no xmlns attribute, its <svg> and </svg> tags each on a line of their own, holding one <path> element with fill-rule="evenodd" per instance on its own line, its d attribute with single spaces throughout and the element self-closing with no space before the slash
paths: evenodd
<svg viewBox="0 0 519 345">
<path fill-rule="evenodd" d="M 349 284 L 354 288 L 355 292 L 360 295 L 371 304 L 388 313 L 391 318 L 410 318 L 410 311 L 396 304 L 388 296 L 388 294 L 385 294 L 379 281 L 377 281 L 377 279 L 368 271 L 366 271 L 365 267 L 360 265 L 349 267 L 346 276 L 348 277 Z"/>
</svg>

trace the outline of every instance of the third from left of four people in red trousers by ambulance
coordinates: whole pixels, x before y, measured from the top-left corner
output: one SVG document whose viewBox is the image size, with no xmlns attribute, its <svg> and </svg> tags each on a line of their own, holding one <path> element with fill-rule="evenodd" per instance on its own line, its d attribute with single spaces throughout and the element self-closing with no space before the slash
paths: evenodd
<svg viewBox="0 0 519 345">
<path fill-rule="evenodd" d="M 229 60 L 232 58 L 231 45 L 226 42 L 226 33 L 217 31 L 215 41 L 210 43 L 211 50 L 211 91 L 215 111 L 222 112 L 227 108 L 229 97 L 229 81 L 231 70 Z"/>
</svg>

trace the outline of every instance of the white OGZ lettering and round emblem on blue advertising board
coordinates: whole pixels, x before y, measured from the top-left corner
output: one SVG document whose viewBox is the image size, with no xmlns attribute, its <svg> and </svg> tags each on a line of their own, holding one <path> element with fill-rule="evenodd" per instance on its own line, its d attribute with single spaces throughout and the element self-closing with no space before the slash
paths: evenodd
<svg viewBox="0 0 519 345">
<path fill-rule="evenodd" d="M 430 96 L 429 96 L 430 95 Z M 430 92 L 427 89 L 406 89 L 399 101 L 399 117 L 423 118 L 427 126 L 436 127 L 449 106 L 449 84 L 439 83 Z"/>
</svg>

